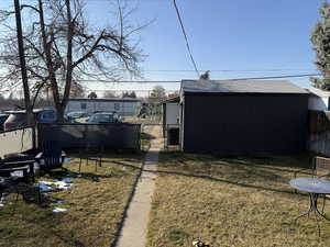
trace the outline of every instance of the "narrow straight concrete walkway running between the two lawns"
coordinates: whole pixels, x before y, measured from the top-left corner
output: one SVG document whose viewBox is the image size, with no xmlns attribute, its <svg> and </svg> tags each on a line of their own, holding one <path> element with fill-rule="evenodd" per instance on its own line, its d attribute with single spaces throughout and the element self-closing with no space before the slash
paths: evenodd
<svg viewBox="0 0 330 247">
<path fill-rule="evenodd" d="M 151 148 L 146 154 L 141 178 L 129 206 L 117 247 L 145 247 L 146 245 L 148 215 L 156 178 L 156 173 L 151 171 L 157 170 L 158 153 L 162 145 L 161 127 L 153 126 L 150 134 L 155 138 L 152 139 Z"/>
</svg>

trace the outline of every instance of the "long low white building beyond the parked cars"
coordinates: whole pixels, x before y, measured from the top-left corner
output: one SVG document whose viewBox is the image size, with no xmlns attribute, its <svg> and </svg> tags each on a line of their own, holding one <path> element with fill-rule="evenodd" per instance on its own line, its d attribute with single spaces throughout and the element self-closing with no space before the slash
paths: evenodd
<svg viewBox="0 0 330 247">
<path fill-rule="evenodd" d="M 70 99 L 66 106 L 66 112 L 84 111 L 95 112 L 117 112 L 122 116 L 138 115 L 141 109 L 141 100 L 132 98 L 112 99 Z"/>
</svg>

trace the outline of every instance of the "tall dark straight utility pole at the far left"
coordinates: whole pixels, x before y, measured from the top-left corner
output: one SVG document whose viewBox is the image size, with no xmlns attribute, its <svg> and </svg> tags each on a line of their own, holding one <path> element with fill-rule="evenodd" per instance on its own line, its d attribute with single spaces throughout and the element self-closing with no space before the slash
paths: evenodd
<svg viewBox="0 0 330 247">
<path fill-rule="evenodd" d="M 25 64 L 25 55 L 24 55 L 20 0 L 14 0 L 14 7 L 15 7 L 20 65 L 21 65 L 23 90 L 24 90 L 24 102 L 25 102 L 25 110 L 28 115 L 28 125 L 31 126 L 33 124 L 33 119 L 32 119 L 33 112 L 32 112 L 32 106 L 30 101 L 30 89 L 28 82 L 26 64 Z"/>
</svg>

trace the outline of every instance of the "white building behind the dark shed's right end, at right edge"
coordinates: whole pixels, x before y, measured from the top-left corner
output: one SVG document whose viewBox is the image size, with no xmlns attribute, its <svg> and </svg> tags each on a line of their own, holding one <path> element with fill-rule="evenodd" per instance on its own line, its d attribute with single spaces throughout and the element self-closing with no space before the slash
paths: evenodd
<svg viewBox="0 0 330 247">
<path fill-rule="evenodd" d="M 330 92 L 322 91 L 317 88 L 308 88 L 307 89 L 310 94 L 308 98 L 308 109 L 315 111 L 329 111 L 329 98 Z"/>
</svg>

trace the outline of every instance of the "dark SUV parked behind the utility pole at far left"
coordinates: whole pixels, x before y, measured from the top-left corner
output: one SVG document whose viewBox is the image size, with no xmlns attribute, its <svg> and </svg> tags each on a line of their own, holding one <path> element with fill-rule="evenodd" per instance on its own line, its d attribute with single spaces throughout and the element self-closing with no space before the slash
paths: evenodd
<svg viewBox="0 0 330 247">
<path fill-rule="evenodd" d="M 15 130 L 28 126 L 26 111 L 7 111 L 8 119 L 3 123 L 3 131 Z M 55 123 L 57 114 L 55 110 L 35 109 L 33 110 L 33 123 Z"/>
</svg>

